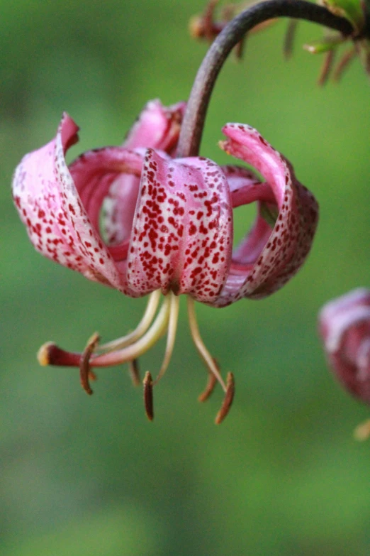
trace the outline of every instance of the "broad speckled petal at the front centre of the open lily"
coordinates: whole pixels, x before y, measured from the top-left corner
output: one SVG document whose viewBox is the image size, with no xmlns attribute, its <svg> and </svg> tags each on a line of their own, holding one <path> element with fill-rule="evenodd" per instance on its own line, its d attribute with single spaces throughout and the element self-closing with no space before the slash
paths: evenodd
<svg viewBox="0 0 370 556">
<path fill-rule="evenodd" d="M 230 265 L 228 182 L 206 158 L 164 159 L 148 149 L 128 254 L 131 295 L 161 288 L 213 303 Z"/>
</svg>

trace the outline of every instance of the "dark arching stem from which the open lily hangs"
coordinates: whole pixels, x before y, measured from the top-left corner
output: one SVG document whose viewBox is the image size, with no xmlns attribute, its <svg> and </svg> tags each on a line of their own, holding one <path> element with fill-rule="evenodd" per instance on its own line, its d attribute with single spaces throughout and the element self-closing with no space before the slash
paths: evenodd
<svg viewBox="0 0 370 556">
<path fill-rule="evenodd" d="M 267 0 L 240 13 L 215 39 L 198 70 L 181 126 L 176 156 L 198 155 L 211 93 L 230 50 L 258 23 L 277 17 L 313 21 L 344 35 L 350 35 L 353 31 L 347 19 L 305 0 Z"/>
</svg>

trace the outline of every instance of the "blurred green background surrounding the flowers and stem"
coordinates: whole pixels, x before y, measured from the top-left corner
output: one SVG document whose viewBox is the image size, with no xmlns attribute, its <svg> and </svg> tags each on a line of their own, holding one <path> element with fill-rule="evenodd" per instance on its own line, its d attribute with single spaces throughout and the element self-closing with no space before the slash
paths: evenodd
<svg viewBox="0 0 370 556">
<path fill-rule="evenodd" d="M 127 369 L 99 373 L 94 396 L 74 369 L 41 368 L 40 344 L 81 349 L 96 329 L 132 329 L 145 300 L 130 300 L 42 258 L 10 196 L 24 153 L 55 135 L 62 111 L 81 126 L 69 160 L 119 144 L 149 99 L 186 99 L 206 45 L 189 38 L 199 0 L 1 0 L 0 18 L 0 553 L 2 556 L 365 556 L 370 551 L 370 444 L 352 438 L 369 408 L 327 370 L 317 336 L 323 303 L 370 285 L 369 82 L 358 61 L 342 83 L 315 85 L 320 58 L 293 58 L 286 21 L 228 60 L 201 153 L 226 121 L 251 124 L 294 164 L 318 197 L 312 254 L 263 301 L 198 305 L 203 337 L 237 394 L 213 424 L 220 390 L 197 403 L 206 372 L 181 322 L 148 423 Z M 230 160 L 229 160 L 230 162 Z M 235 214 L 235 237 L 252 220 Z M 142 358 L 154 373 L 163 343 Z"/>
</svg>

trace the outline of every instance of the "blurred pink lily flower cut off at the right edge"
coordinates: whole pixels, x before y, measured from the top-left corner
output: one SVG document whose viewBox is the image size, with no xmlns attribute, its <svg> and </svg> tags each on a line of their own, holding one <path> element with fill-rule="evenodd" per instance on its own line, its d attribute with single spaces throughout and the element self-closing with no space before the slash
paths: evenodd
<svg viewBox="0 0 370 556">
<path fill-rule="evenodd" d="M 353 396 L 370 403 L 370 290 L 328 302 L 319 325 L 333 373 Z"/>
</svg>

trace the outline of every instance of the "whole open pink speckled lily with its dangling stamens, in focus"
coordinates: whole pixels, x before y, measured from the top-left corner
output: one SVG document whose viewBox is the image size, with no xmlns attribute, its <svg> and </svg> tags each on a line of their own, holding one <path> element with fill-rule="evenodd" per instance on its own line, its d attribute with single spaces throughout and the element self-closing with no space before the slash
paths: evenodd
<svg viewBox="0 0 370 556">
<path fill-rule="evenodd" d="M 224 381 L 203 344 L 194 300 L 225 307 L 281 288 L 308 255 L 318 205 L 288 160 L 247 125 L 226 124 L 220 147 L 252 165 L 263 182 L 245 167 L 173 158 L 184 107 L 148 103 L 123 146 L 88 151 L 69 166 L 65 153 L 77 142 L 78 128 L 64 114 L 55 138 L 16 168 L 13 197 L 41 254 L 130 297 L 150 294 L 130 334 L 102 345 L 94 334 L 82 353 L 49 342 L 40 348 L 40 363 L 79 367 L 82 386 L 92 393 L 91 369 L 128 362 L 138 381 L 138 357 L 167 334 L 158 376 L 147 373 L 144 380 L 152 419 L 152 386 L 169 365 L 179 295 L 187 294 L 191 336 L 209 376 L 199 399 L 220 383 L 220 423 L 232 403 L 234 379 L 229 373 Z M 232 210 L 252 202 L 255 222 L 232 251 Z"/>
</svg>

